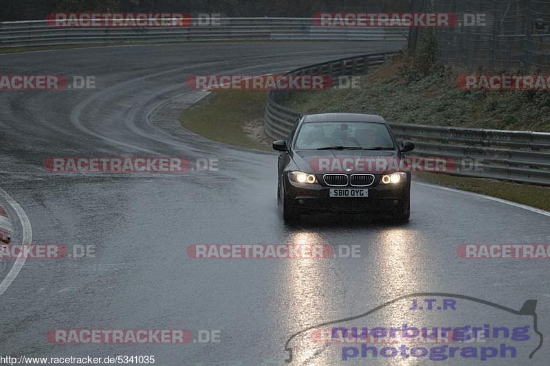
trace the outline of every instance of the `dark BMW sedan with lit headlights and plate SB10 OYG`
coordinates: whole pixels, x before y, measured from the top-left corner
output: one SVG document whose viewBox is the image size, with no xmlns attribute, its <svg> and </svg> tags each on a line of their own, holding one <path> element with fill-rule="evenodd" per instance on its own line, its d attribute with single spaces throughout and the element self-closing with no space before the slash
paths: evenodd
<svg viewBox="0 0 550 366">
<path fill-rule="evenodd" d="M 300 214 L 351 212 L 410 216 L 410 172 L 399 169 L 403 153 L 378 115 L 323 113 L 304 115 L 286 140 L 274 141 L 278 159 L 278 203 L 283 218 Z"/>
</svg>

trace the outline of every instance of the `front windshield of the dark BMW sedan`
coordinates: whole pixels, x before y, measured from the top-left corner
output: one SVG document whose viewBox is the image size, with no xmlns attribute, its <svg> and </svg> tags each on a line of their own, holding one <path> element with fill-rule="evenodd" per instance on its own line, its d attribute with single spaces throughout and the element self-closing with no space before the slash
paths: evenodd
<svg viewBox="0 0 550 366">
<path fill-rule="evenodd" d="M 395 149 L 385 124 L 373 122 L 308 122 L 296 138 L 296 149 Z"/>
</svg>

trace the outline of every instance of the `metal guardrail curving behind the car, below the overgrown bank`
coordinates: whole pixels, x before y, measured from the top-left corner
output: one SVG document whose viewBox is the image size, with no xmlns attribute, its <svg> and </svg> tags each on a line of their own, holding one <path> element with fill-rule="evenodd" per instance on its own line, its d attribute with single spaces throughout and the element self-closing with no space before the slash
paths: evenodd
<svg viewBox="0 0 550 366">
<path fill-rule="evenodd" d="M 382 65 L 392 54 L 368 54 L 300 67 L 288 74 L 329 75 L 336 77 L 366 73 Z M 265 133 L 272 139 L 284 139 L 303 113 L 283 106 L 292 92 L 270 91 L 265 107 Z M 419 157 L 443 157 L 479 162 L 478 171 L 454 174 L 505 179 L 550 186 L 550 133 L 480 128 L 397 124 L 390 126 L 398 139 L 415 142 L 413 154 Z"/>
</svg>

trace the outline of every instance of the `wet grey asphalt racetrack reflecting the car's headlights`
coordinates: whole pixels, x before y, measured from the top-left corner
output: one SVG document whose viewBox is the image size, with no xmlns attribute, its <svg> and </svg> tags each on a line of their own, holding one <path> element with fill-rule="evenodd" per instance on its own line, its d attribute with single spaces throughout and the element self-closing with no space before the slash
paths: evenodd
<svg viewBox="0 0 550 366">
<path fill-rule="evenodd" d="M 538 328 L 550 335 L 547 260 L 465 260 L 456 255 L 462 243 L 548 243 L 548 216 L 413 183 L 408 225 L 322 216 L 287 226 L 276 208 L 276 155 L 230 148 L 185 131 L 171 137 L 148 124 L 159 103 L 188 91 L 184 80 L 194 73 L 284 71 L 391 47 L 178 44 L 0 55 L 2 74 L 59 73 L 97 80 L 96 89 L 87 91 L 0 93 L 0 187 L 28 215 L 32 242 L 94 245 L 97 252 L 96 258 L 25 262 L 0 295 L 0 354 L 148 354 L 155 355 L 156 365 L 261 365 L 267 359 L 279 365 L 288 356 L 287 339 L 299 330 L 423 292 L 467 295 L 513 309 L 537 299 Z M 133 155 L 216 158 L 219 171 L 77 175 L 50 174 L 43 168 L 47 157 Z M 21 225 L 5 206 L 17 242 Z M 214 242 L 360 245 L 361 255 L 188 258 L 188 245 Z M 2 264 L 0 279 L 9 270 Z M 483 312 L 489 317 L 492 309 L 475 310 L 476 318 L 484 319 Z M 446 317 L 445 312 L 424 315 Z M 394 316 L 397 324 L 411 317 L 405 312 L 402 318 Z M 496 316 L 503 324 L 509 321 Z M 52 329 L 179 328 L 220 330 L 221 341 L 60 345 L 48 343 L 45 336 Z M 547 365 L 548 344 L 527 362 Z M 461 364 L 473 363 L 467 361 Z M 342 361 L 334 352 L 321 351 L 301 362 Z M 378 363 L 384 362 L 428 361 L 388 358 Z M 519 359 L 511 362 L 516 363 Z"/>
</svg>

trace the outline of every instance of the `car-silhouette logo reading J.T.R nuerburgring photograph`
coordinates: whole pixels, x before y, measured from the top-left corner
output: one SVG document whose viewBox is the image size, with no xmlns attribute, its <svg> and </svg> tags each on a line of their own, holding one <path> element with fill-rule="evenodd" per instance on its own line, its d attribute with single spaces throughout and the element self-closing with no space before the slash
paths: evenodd
<svg viewBox="0 0 550 366">
<path fill-rule="evenodd" d="M 405 352 L 401 352 L 402 358 L 427 357 L 430 361 L 454 359 L 454 354 L 446 353 L 451 349 L 459 350 L 456 357 L 478 357 L 479 351 L 478 361 L 498 356 L 498 348 L 500 358 L 507 357 L 507 352 L 516 358 L 516 347 L 518 356 L 531 359 L 542 347 L 543 339 L 537 326 L 536 304 L 535 299 L 528 299 L 516 310 L 453 293 L 410 293 L 363 314 L 325 321 L 292 334 L 285 343 L 285 361 L 303 365 L 311 354 L 321 353 L 339 361 L 375 361 L 378 348 L 381 357 L 398 358 L 398 347 Z M 410 355 L 406 350 L 411 351 Z"/>
</svg>

